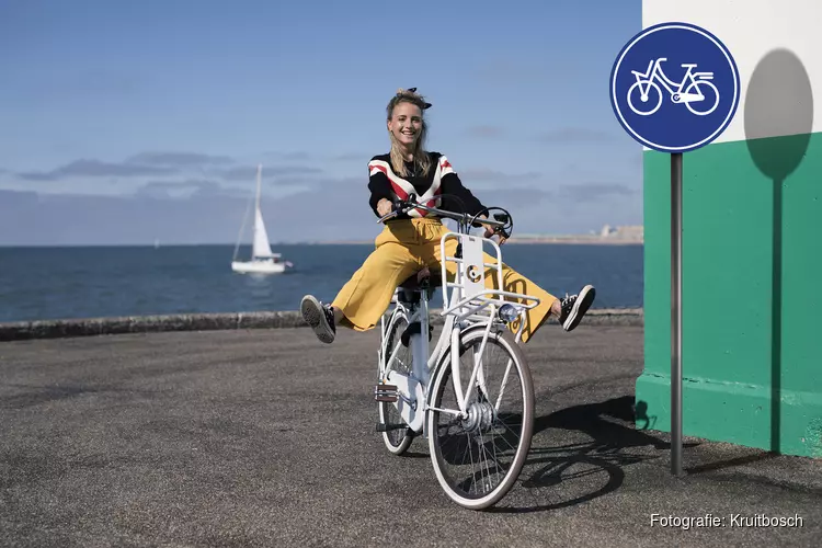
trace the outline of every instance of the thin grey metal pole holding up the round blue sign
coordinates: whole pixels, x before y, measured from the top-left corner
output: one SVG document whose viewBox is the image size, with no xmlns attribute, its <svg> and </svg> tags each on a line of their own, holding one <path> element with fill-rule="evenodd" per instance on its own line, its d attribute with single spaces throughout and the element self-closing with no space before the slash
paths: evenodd
<svg viewBox="0 0 822 548">
<path fill-rule="evenodd" d="M 671 473 L 682 476 L 682 152 L 671 155 Z"/>
</svg>

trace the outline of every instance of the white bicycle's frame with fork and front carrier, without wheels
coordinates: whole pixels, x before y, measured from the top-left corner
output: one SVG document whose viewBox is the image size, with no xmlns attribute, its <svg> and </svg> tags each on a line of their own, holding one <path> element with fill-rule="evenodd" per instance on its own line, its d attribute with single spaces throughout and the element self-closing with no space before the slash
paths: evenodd
<svg viewBox="0 0 822 548">
<path fill-rule="evenodd" d="M 423 207 L 447 215 L 447 212 L 439 212 L 436 208 L 427 208 L 425 206 Z M 459 252 L 448 255 L 447 250 L 452 240 L 456 240 L 457 246 L 455 246 L 455 250 L 458 250 Z M 407 304 L 402 302 L 401 299 L 397 298 L 397 294 L 395 294 L 395 299 L 392 300 L 392 302 L 395 302 L 395 309 L 390 313 L 388 322 L 386 323 L 385 315 L 380 320 L 381 341 L 378 351 L 379 377 L 381 380 L 396 386 L 398 399 L 396 400 L 395 406 L 400 411 L 408 427 L 416 433 L 422 431 L 424 437 L 429 436 L 427 421 L 425 421 L 427 411 L 439 411 L 467 416 L 466 402 L 472 395 L 475 384 L 484 388 L 481 356 L 486 343 L 493 329 L 507 329 L 505 327 L 505 320 L 501 318 L 500 310 L 506 306 L 511 307 L 509 309 L 507 321 L 514 322 L 520 320 L 520 328 L 515 333 L 515 341 L 516 343 L 520 343 L 525 327 L 525 312 L 539 304 L 537 297 L 505 292 L 503 289 L 488 289 L 486 287 L 487 272 L 490 272 L 495 276 L 496 287 L 503 287 L 502 251 L 495 241 L 471 236 L 468 232 L 468 227 L 460 222 L 459 231 L 446 232 L 441 238 L 439 243 L 441 276 L 443 281 L 443 310 L 441 316 L 445 317 L 445 323 L 434 351 L 431 353 L 429 351 L 429 292 L 425 288 L 420 290 L 419 306 L 409 307 Z M 492 259 L 491 262 L 486 261 L 484 247 L 487 244 L 492 247 L 493 254 L 488 253 Z M 456 275 L 453 282 L 447 281 L 448 263 L 456 264 Z M 518 301 L 510 299 L 517 299 Z M 404 375 L 392 370 L 388 377 L 386 377 L 386 369 L 397 358 L 396 351 L 399 347 L 399 345 L 396 345 L 393 351 L 388 349 L 386 334 L 391 332 L 395 324 L 400 321 L 400 319 L 408 321 L 409 326 L 418 322 L 420 324 L 419 332 L 414 330 L 409 338 L 409 346 L 412 350 L 413 356 L 412 373 L 411 375 Z M 475 356 L 475 364 L 468 380 L 467 389 L 463 391 L 459 370 L 460 339 L 463 333 L 467 330 L 476 329 L 483 330 L 483 338 L 479 350 L 480 357 L 478 359 L 477 356 Z M 448 349 L 450 350 L 450 356 L 449 359 L 445 361 L 446 356 L 444 354 Z M 383 357 L 389 352 L 390 356 L 388 356 L 388 359 L 383 359 Z M 504 376 L 505 379 L 507 379 L 512 365 L 513 362 L 509 361 Z M 441 374 L 437 366 L 450 367 L 458 409 L 449 410 L 432 407 L 434 395 L 430 390 L 430 387 L 432 385 L 431 380 L 436 375 Z M 494 409 L 499 409 L 504 388 L 505 383 L 503 383 Z"/>
</svg>

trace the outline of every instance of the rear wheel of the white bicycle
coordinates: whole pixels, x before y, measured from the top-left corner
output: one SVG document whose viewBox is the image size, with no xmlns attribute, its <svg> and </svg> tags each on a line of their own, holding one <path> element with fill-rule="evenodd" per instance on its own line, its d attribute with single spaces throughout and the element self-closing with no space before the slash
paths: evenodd
<svg viewBox="0 0 822 548">
<path fill-rule="evenodd" d="M 397 356 L 386 367 L 386 375 L 390 370 L 402 373 L 403 375 L 410 375 L 412 369 L 413 354 L 411 349 L 402 345 L 400 338 L 402 333 L 408 329 L 408 318 L 404 315 L 398 315 L 393 326 L 389 327 L 389 332 L 386 335 L 386 354 L 383 356 L 383 363 L 385 364 L 391 358 L 395 349 L 397 349 Z M 383 380 L 380 378 L 380 380 Z M 378 401 L 377 409 L 379 411 L 379 422 L 384 425 L 406 425 L 400 415 L 397 407 L 387 401 Z M 386 444 L 386 448 L 393 455 L 402 455 L 408 450 L 414 436 L 410 429 L 399 427 L 383 432 L 383 442 Z"/>
</svg>

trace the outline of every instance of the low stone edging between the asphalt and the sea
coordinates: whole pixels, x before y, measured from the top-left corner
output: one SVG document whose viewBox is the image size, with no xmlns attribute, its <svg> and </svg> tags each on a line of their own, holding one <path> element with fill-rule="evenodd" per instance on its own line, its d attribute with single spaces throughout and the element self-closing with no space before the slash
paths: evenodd
<svg viewBox="0 0 822 548">
<path fill-rule="evenodd" d="M 432 323 L 442 323 L 439 310 L 432 309 Z M 556 322 L 555 319 L 549 322 Z M 641 308 L 591 309 L 585 324 L 642 326 Z M 296 310 L 281 312 L 179 313 L 165 316 L 124 316 L 0 323 L 0 341 L 59 339 L 67 336 L 151 333 L 161 331 L 214 331 L 235 329 L 306 328 Z"/>
</svg>

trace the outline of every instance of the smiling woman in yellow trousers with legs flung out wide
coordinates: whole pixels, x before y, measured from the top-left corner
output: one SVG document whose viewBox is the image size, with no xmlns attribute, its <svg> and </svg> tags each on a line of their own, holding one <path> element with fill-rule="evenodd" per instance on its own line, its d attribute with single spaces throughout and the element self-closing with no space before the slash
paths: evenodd
<svg viewBox="0 0 822 548">
<path fill-rule="evenodd" d="M 427 127 L 423 111 L 431 107 L 415 88 L 399 90 L 387 107 L 388 136 L 391 151 L 375 156 L 368 163 L 370 190 L 369 204 L 377 217 L 392 209 L 396 199 L 406 199 L 411 193 L 419 196 L 418 203 L 439 209 L 476 215 L 483 209 L 473 194 L 463 186 L 447 158 L 438 152 L 425 150 Z M 447 194 L 437 201 L 436 196 Z M 442 203 L 439 203 L 442 202 Z M 480 216 L 484 218 L 486 216 Z M 317 338 L 331 343 L 336 326 L 366 331 L 374 328 L 385 313 L 397 287 L 418 271 L 429 267 L 438 272 L 439 239 L 448 231 L 442 220 L 422 209 L 401 214 L 385 222 L 383 232 L 375 241 L 375 250 L 352 278 L 342 287 L 331 305 L 320 302 L 306 295 L 300 311 Z M 486 229 L 486 237 L 493 233 Z M 503 243 L 501 240 L 500 243 Z M 449 244 L 456 246 L 456 241 Z M 446 250 L 448 255 L 454 249 Z M 494 259 L 486 255 L 486 260 Z M 455 265 L 446 267 L 454 276 Z M 486 276 L 487 286 L 493 287 L 496 276 Z M 522 341 L 528 341 L 550 316 L 559 318 L 566 331 L 574 329 L 594 300 L 595 290 L 586 285 L 579 295 L 558 299 L 534 282 L 503 264 L 503 283 L 506 290 L 538 297 L 538 306 L 527 311 Z"/>
</svg>

